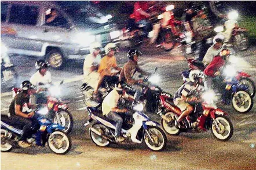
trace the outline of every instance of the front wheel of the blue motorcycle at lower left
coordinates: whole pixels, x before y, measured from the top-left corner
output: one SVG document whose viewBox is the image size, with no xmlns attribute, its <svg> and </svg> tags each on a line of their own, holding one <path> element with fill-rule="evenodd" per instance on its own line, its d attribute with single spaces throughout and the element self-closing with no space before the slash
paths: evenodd
<svg viewBox="0 0 256 170">
<path fill-rule="evenodd" d="M 59 146 L 56 147 L 55 146 L 56 143 L 52 143 L 52 141 L 58 139 L 58 138 L 54 137 L 55 135 L 63 136 L 65 143 L 63 143 L 64 142 L 63 139 L 61 139 L 61 140 L 59 139 L 62 142 L 61 147 L 59 147 Z M 64 131 L 60 131 L 60 130 L 56 130 L 52 134 L 50 134 L 47 139 L 47 142 L 48 142 L 48 146 L 49 146 L 50 150 L 52 150 L 52 152 L 56 153 L 56 154 L 66 154 L 70 151 L 71 146 L 72 146 L 70 135 L 68 135 L 67 133 L 64 133 Z M 58 141 L 57 141 L 57 145 L 58 144 L 60 144 L 60 143 L 58 143 Z M 65 145 L 64 149 L 63 149 L 63 145 Z"/>
</svg>

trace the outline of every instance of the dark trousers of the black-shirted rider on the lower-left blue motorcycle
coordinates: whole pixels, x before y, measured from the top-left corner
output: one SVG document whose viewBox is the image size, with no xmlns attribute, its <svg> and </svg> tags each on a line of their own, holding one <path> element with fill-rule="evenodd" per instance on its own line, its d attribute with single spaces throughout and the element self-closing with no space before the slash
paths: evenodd
<svg viewBox="0 0 256 170">
<path fill-rule="evenodd" d="M 30 138 L 39 129 L 38 120 L 33 116 L 30 119 L 21 116 L 12 115 L 9 118 L 10 125 L 23 130 L 20 140 L 24 141 Z M 32 129 L 33 127 L 33 129 Z"/>
</svg>

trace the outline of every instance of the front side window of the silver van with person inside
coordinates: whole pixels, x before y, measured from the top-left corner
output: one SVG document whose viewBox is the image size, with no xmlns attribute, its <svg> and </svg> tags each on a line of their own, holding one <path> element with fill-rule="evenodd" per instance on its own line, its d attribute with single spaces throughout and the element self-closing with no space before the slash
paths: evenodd
<svg viewBox="0 0 256 170">
<path fill-rule="evenodd" d="M 67 28 L 68 21 L 66 18 L 63 17 L 63 15 L 60 12 L 58 12 L 57 9 L 52 8 L 46 10 L 45 25 L 52 27 Z"/>
</svg>

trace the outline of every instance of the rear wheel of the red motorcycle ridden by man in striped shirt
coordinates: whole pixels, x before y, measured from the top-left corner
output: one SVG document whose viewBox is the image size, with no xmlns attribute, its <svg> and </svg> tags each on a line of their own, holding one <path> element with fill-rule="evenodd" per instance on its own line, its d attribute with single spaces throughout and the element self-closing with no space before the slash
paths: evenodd
<svg viewBox="0 0 256 170">
<path fill-rule="evenodd" d="M 177 129 L 177 127 L 175 127 L 175 119 L 177 119 L 177 115 L 175 115 L 173 112 L 167 112 L 165 114 L 165 116 L 167 118 L 171 118 L 171 122 L 167 122 L 166 120 L 161 120 L 161 125 L 163 130 L 170 135 L 178 135 L 180 134 L 180 129 Z"/>
</svg>

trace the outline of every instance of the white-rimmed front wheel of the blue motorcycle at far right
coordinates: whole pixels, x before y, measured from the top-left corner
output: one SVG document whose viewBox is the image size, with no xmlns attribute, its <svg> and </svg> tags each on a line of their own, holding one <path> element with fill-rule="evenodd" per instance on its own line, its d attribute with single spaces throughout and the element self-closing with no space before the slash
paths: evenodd
<svg viewBox="0 0 256 170">
<path fill-rule="evenodd" d="M 237 99 L 238 95 L 246 96 L 246 99 L 244 99 L 244 97 L 243 97 L 243 99 L 240 99 L 240 97 Z M 244 100 L 246 100 L 246 101 L 244 101 Z M 237 105 L 238 102 L 242 103 L 244 105 L 244 102 L 247 102 L 247 101 L 248 101 L 248 106 L 245 109 L 243 109 L 243 108 L 239 107 L 239 105 Z M 250 112 L 251 109 L 253 108 L 253 98 L 247 92 L 242 91 L 242 90 L 232 94 L 231 103 L 232 103 L 232 107 L 240 114 L 246 114 L 246 113 Z"/>
</svg>

